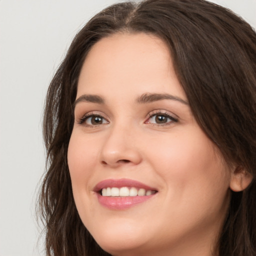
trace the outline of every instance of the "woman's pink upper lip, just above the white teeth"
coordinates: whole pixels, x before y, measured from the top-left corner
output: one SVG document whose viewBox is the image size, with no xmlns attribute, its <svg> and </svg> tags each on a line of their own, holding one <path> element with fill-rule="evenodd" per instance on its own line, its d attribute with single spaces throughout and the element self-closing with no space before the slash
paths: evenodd
<svg viewBox="0 0 256 256">
<path fill-rule="evenodd" d="M 104 179 L 100 182 L 98 182 L 94 188 L 93 191 L 99 192 L 102 188 L 106 187 L 123 187 L 123 186 L 128 186 L 128 187 L 138 187 L 138 188 L 144 188 L 146 190 L 155 190 L 154 187 L 150 187 L 146 184 L 143 184 L 137 180 L 133 179 L 127 179 L 127 178 L 121 178 L 121 179 Z"/>
</svg>

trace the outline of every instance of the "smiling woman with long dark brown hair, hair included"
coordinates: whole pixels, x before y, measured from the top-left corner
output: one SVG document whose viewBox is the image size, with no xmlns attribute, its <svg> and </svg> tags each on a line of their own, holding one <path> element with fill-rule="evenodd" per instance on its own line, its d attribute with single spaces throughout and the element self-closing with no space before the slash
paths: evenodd
<svg viewBox="0 0 256 256">
<path fill-rule="evenodd" d="M 47 255 L 255 255 L 255 70 L 207 1 L 96 14 L 47 93 Z"/>
</svg>

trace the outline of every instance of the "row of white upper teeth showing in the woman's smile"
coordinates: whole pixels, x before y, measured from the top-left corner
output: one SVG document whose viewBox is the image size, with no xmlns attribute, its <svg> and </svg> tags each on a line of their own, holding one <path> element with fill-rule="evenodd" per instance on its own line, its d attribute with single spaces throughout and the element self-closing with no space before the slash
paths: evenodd
<svg viewBox="0 0 256 256">
<path fill-rule="evenodd" d="M 145 190 L 144 188 L 123 187 L 105 187 L 101 190 L 102 196 L 144 196 L 154 194 L 154 190 Z"/>
</svg>

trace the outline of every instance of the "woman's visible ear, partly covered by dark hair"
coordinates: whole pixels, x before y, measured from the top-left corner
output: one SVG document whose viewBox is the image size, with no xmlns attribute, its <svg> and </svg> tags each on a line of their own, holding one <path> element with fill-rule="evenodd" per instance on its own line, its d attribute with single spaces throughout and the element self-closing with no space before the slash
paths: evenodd
<svg viewBox="0 0 256 256">
<path fill-rule="evenodd" d="M 252 175 L 241 166 L 235 168 L 231 173 L 229 187 L 234 192 L 244 190 L 252 181 Z"/>
</svg>

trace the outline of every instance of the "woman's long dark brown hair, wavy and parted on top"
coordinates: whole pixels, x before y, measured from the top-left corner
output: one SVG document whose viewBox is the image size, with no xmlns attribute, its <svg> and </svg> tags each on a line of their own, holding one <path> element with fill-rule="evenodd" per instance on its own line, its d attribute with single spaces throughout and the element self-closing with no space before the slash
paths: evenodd
<svg viewBox="0 0 256 256">
<path fill-rule="evenodd" d="M 44 141 L 47 171 L 40 191 L 46 254 L 109 255 L 77 213 L 67 165 L 74 122 L 72 104 L 86 54 L 117 32 L 151 33 L 169 47 L 191 110 L 227 163 L 253 175 L 244 191 L 230 192 L 230 206 L 216 255 L 256 254 L 256 34 L 231 11 L 205 0 L 145 0 L 112 5 L 76 34 L 47 92 Z"/>
</svg>

